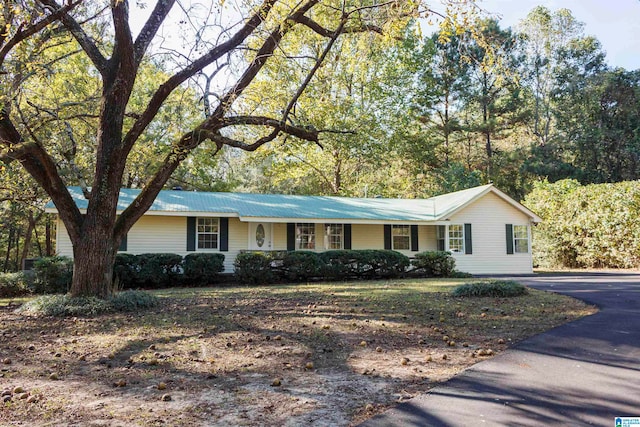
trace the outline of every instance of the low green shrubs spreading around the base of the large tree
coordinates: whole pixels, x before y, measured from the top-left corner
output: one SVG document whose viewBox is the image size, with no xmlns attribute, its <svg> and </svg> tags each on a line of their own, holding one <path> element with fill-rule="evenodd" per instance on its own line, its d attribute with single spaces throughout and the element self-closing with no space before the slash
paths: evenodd
<svg viewBox="0 0 640 427">
<path fill-rule="evenodd" d="M 119 292 L 109 299 L 71 298 L 69 295 L 43 295 L 24 303 L 16 311 L 36 316 L 96 316 L 114 311 L 138 311 L 151 308 L 158 298 L 147 292 Z"/>
</svg>

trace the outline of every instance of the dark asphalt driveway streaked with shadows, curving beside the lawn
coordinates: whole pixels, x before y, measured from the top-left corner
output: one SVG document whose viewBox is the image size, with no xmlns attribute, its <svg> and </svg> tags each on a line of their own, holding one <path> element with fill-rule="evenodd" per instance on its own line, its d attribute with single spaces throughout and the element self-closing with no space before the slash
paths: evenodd
<svg viewBox="0 0 640 427">
<path fill-rule="evenodd" d="M 640 274 L 517 280 L 600 311 L 523 341 L 362 426 L 614 426 L 615 417 L 640 417 Z"/>
</svg>

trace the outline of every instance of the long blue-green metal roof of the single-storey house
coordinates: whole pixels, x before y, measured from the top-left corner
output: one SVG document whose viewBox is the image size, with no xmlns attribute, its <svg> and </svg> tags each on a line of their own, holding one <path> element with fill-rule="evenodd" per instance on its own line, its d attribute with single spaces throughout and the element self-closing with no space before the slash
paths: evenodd
<svg viewBox="0 0 640 427">
<path fill-rule="evenodd" d="M 446 219 L 456 210 L 471 203 L 488 191 L 497 191 L 491 184 L 457 191 L 429 199 L 382 199 L 329 196 L 292 196 L 279 194 L 206 193 L 195 191 L 163 190 L 149 209 L 150 214 L 172 214 L 184 212 L 199 214 L 221 214 L 251 218 L 295 219 L 295 220 L 360 220 L 360 221 L 410 221 L 427 222 Z M 86 209 L 88 201 L 79 187 L 69 191 L 80 209 Z M 118 210 L 124 210 L 140 193 L 138 189 L 120 190 Z M 500 195 L 499 194 L 499 195 Z M 507 197 L 508 198 L 508 197 Z M 510 203 L 522 207 L 517 202 Z M 56 212 L 49 202 L 49 212 Z M 531 213 L 532 218 L 536 218 Z"/>
</svg>

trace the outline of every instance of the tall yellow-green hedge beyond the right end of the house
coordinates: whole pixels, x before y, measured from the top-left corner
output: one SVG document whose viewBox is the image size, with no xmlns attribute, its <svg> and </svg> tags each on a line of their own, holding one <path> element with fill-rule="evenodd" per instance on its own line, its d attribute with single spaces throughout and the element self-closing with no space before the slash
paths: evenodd
<svg viewBox="0 0 640 427">
<path fill-rule="evenodd" d="M 640 182 L 581 185 L 540 182 L 525 206 L 542 218 L 532 228 L 535 266 L 637 268 Z"/>
</svg>

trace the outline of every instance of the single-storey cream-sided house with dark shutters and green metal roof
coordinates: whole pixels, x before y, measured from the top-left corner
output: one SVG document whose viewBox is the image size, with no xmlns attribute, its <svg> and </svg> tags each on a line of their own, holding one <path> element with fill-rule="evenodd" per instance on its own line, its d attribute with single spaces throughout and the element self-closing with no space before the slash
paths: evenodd
<svg viewBox="0 0 640 427">
<path fill-rule="evenodd" d="M 82 210 L 79 187 L 70 192 Z M 139 190 L 122 189 L 118 210 Z M 49 203 L 49 213 L 57 213 Z M 532 272 L 531 226 L 541 219 L 493 185 L 428 199 L 347 198 L 164 190 L 131 228 L 120 251 L 221 252 L 225 272 L 241 251 L 392 249 L 450 251 L 472 274 Z M 56 250 L 73 257 L 58 218 Z"/>
</svg>

